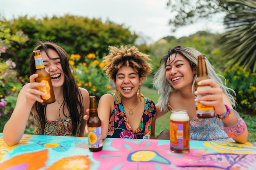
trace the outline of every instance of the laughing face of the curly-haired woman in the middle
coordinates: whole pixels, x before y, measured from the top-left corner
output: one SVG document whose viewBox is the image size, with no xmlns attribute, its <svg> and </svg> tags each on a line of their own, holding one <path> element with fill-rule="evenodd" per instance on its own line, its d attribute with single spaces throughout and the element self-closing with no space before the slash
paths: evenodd
<svg viewBox="0 0 256 170">
<path fill-rule="evenodd" d="M 121 67 L 116 75 L 115 85 L 121 96 L 124 98 L 132 98 L 136 96 L 141 85 L 143 77 L 139 78 L 139 75 L 131 67 Z"/>
</svg>

